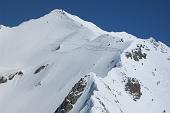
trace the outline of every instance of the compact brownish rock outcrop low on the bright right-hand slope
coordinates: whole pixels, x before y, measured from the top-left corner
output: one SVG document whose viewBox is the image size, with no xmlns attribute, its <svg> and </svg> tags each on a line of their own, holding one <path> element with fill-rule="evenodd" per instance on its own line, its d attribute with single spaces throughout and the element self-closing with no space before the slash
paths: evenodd
<svg viewBox="0 0 170 113">
<path fill-rule="evenodd" d="M 140 99 L 142 95 L 141 85 L 136 78 L 130 78 L 130 77 L 126 78 L 125 91 L 127 91 L 130 95 L 132 95 L 134 101 Z"/>
</svg>

